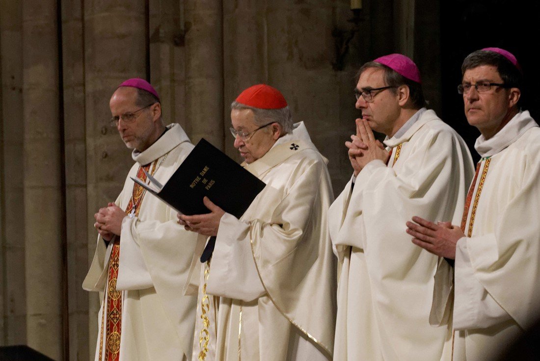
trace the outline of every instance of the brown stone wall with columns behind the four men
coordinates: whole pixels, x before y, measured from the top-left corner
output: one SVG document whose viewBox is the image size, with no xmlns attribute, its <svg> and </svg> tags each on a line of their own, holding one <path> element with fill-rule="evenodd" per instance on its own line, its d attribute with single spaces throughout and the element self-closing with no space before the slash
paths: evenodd
<svg viewBox="0 0 540 361">
<path fill-rule="evenodd" d="M 108 126 L 124 79 L 150 79 L 167 122 L 238 161 L 228 107 L 247 86 L 275 86 L 329 159 L 336 195 L 350 177 L 343 143 L 362 63 L 413 57 L 437 110 L 438 5 L 363 4 L 334 70 L 333 35 L 353 28 L 348 0 L 0 0 L 0 346 L 93 359 L 99 298 L 81 285 L 93 214 L 132 165 Z"/>
</svg>

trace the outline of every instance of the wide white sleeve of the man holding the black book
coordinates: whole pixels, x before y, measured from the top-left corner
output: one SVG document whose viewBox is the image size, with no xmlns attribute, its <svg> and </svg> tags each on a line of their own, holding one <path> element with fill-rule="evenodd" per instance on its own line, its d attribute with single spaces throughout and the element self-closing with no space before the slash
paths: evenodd
<svg viewBox="0 0 540 361">
<path fill-rule="evenodd" d="M 225 213 L 219 223 L 206 293 L 246 302 L 264 295 L 249 242 L 249 223 Z"/>
</svg>

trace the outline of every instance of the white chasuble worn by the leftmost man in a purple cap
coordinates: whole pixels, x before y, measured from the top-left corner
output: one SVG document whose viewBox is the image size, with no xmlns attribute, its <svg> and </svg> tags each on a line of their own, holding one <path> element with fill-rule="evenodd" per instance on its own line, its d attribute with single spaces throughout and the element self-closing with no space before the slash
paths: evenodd
<svg viewBox="0 0 540 361">
<path fill-rule="evenodd" d="M 130 176 L 136 177 L 141 165 L 156 163 L 154 177 L 164 184 L 193 149 L 180 125 L 167 128 L 148 149 L 133 151 L 137 163 L 116 200 L 120 208 L 126 209 L 132 200 L 134 182 Z M 176 211 L 150 193 L 143 195 L 136 207 L 138 216 L 127 216 L 122 222 L 116 291 L 107 282 L 113 242 L 105 247 L 101 237 L 83 283 L 85 290 L 99 291 L 102 296 L 95 359 L 104 361 L 107 351 L 104 322 L 109 290 L 122 298 L 120 313 L 115 316 L 121 324 L 120 361 L 190 359 L 196 298 L 184 296 L 183 286 L 197 235 L 185 231 L 177 223 Z"/>
</svg>

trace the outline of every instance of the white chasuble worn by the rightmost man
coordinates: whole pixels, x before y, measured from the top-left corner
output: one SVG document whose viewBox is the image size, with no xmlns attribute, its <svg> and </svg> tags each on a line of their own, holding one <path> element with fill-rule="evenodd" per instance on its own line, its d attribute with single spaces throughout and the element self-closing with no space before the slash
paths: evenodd
<svg viewBox="0 0 540 361">
<path fill-rule="evenodd" d="M 519 112 L 482 156 L 457 243 L 454 360 L 490 359 L 538 318 L 540 128 Z"/>
</svg>

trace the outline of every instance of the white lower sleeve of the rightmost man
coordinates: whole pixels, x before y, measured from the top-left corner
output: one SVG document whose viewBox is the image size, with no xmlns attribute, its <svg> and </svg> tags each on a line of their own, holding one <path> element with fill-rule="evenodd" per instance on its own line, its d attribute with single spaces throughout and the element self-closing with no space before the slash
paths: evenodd
<svg viewBox="0 0 540 361">
<path fill-rule="evenodd" d="M 466 237 L 456 245 L 454 283 L 454 329 L 483 329 L 511 319 L 475 276 Z"/>
</svg>

